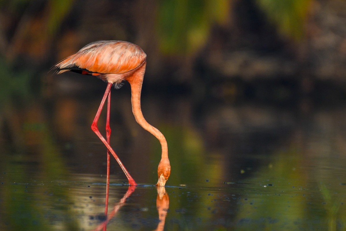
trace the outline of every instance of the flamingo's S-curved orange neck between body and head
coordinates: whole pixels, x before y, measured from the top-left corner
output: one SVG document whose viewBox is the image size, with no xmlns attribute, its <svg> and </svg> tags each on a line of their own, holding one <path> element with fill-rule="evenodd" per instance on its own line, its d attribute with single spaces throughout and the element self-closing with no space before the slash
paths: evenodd
<svg viewBox="0 0 346 231">
<path fill-rule="evenodd" d="M 144 68 L 140 68 L 133 76 L 127 79 L 131 86 L 131 104 L 132 104 L 132 112 L 135 116 L 137 123 L 142 126 L 145 130 L 152 133 L 161 144 L 162 154 L 161 159 L 168 159 L 168 147 L 166 138 L 162 135 L 162 133 L 152 125 L 150 125 L 143 117 L 142 110 L 140 109 L 140 93 L 142 91 L 142 83 L 145 71 Z"/>
</svg>

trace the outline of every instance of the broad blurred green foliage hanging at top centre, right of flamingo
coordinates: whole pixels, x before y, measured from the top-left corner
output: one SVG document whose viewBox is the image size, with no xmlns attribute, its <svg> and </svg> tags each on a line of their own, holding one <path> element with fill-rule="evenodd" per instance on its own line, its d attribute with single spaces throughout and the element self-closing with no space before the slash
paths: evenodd
<svg viewBox="0 0 346 231">
<path fill-rule="evenodd" d="M 192 54 L 210 29 L 228 18 L 228 0 L 164 0 L 158 12 L 158 39 L 164 54 Z"/>
</svg>

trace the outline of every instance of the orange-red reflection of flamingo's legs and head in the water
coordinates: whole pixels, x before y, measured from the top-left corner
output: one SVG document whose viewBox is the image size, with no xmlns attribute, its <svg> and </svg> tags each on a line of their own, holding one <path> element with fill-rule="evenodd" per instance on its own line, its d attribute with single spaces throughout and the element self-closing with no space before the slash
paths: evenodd
<svg viewBox="0 0 346 231">
<path fill-rule="evenodd" d="M 108 185 L 107 185 L 108 186 Z M 106 215 L 107 219 L 103 221 L 101 224 L 98 225 L 93 231 L 106 231 L 108 222 L 115 216 L 119 209 L 125 204 L 126 198 L 128 198 L 136 189 L 136 186 L 129 186 L 127 192 L 124 194 L 124 196 L 119 200 L 118 203 L 115 204 L 114 209 L 110 214 L 107 215 L 107 208 L 108 208 L 108 194 L 109 190 L 106 191 L 106 210 L 104 211 L 104 214 Z M 165 227 L 165 220 L 167 216 L 167 212 L 170 205 L 170 198 L 168 194 L 166 193 L 165 187 L 156 187 L 157 189 L 157 197 L 156 197 L 156 208 L 158 212 L 158 219 L 160 220 L 157 224 L 157 228 L 155 231 L 163 231 Z"/>
</svg>

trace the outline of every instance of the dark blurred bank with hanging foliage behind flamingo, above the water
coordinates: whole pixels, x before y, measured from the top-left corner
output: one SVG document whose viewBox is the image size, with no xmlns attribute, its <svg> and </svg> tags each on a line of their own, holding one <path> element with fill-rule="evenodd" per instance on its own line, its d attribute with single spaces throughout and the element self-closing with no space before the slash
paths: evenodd
<svg viewBox="0 0 346 231">
<path fill-rule="evenodd" d="M 280 104 L 344 99 L 342 0 L 13 0 L 0 7 L 2 104 L 16 93 L 52 94 L 52 85 L 92 87 L 90 78 L 47 72 L 95 40 L 142 47 L 151 91 Z"/>
</svg>

